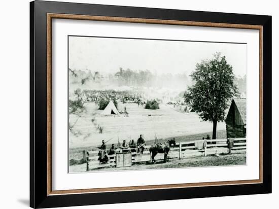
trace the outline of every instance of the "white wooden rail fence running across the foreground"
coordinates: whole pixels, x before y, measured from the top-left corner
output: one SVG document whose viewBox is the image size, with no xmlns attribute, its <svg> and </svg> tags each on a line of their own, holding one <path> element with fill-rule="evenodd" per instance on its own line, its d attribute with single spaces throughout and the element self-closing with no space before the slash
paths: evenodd
<svg viewBox="0 0 279 209">
<path fill-rule="evenodd" d="M 195 142 L 180 142 L 176 146 L 170 148 L 170 152 L 167 155 L 167 159 L 173 158 L 190 158 L 196 156 L 206 156 L 214 154 L 231 154 L 246 152 L 246 138 L 235 138 L 233 143 L 233 148 L 230 149 L 228 146 L 227 139 L 217 139 L 217 140 L 199 140 L 201 143 L 204 143 L 204 148 L 201 150 L 196 149 Z M 215 142 L 215 144 L 211 144 Z M 132 155 L 132 164 L 140 162 L 151 162 L 151 155 L 149 152 L 150 146 L 145 146 L 143 154 L 137 153 L 136 149 L 124 149 L 123 152 L 131 152 Z M 83 151 L 83 159 L 87 163 L 86 170 L 102 167 L 116 166 L 116 154 L 108 155 L 108 163 L 100 163 L 98 161 L 98 150 L 95 151 Z M 163 160 L 164 154 L 158 153 L 155 157 L 155 160 Z"/>
</svg>

